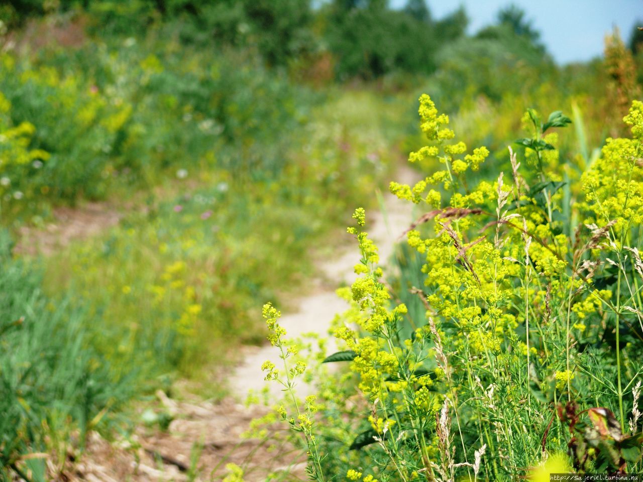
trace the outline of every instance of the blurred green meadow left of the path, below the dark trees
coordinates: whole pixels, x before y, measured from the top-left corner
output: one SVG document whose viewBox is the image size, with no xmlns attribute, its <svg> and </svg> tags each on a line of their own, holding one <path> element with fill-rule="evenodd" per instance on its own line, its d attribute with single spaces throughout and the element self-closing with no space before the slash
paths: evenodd
<svg viewBox="0 0 643 482">
<path fill-rule="evenodd" d="M 241 54 L 154 39 L 0 60 L 0 129 L 35 129 L 0 169 L 5 225 L 86 199 L 128 211 L 51 256 L 5 254 L 0 448 L 35 481 L 44 465 L 25 454 L 61 467 L 132 400 L 178 377 L 212 384 L 262 343 L 262 302 L 305 292 L 315 246 L 383 187 L 406 100 L 312 92 Z M 215 377 L 206 391 L 223 397 Z"/>
</svg>

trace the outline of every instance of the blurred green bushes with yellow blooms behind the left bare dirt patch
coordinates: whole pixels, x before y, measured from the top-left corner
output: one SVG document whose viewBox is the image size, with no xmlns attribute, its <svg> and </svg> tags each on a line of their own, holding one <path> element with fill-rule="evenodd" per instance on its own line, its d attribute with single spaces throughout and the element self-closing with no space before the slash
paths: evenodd
<svg viewBox="0 0 643 482">
<path fill-rule="evenodd" d="M 284 171 L 289 140 L 274 126 L 298 127 L 317 96 L 241 53 L 206 61 L 141 42 L 3 55 L 0 129 L 24 150 L 18 159 L 12 147 L 0 173 L 5 220 L 150 187 L 179 169 Z"/>
</svg>

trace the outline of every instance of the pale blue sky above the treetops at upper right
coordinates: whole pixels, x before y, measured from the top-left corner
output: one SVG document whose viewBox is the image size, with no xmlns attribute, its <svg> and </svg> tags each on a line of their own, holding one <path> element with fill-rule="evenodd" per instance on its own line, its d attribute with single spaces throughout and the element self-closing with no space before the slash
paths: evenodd
<svg viewBox="0 0 643 482">
<path fill-rule="evenodd" d="M 403 6 L 406 0 L 391 0 Z M 590 60 L 602 55 L 605 33 L 613 25 L 621 37 L 629 33 L 639 19 L 643 26 L 643 0 L 428 0 L 433 18 L 441 18 L 464 5 L 469 15 L 469 32 L 494 22 L 503 6 L 514 3 L 541 32 L 541 39 L 559 63 Z"/>
</svg>

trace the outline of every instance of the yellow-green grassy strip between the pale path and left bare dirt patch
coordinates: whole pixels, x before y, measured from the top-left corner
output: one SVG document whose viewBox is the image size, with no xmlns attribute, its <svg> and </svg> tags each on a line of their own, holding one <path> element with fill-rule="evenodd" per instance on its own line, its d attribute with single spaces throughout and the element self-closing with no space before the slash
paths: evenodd
<svg viewBox="0 0 643 482">
<path fill-rule="evenodd" d="M 174 183 L 174 199 L 152 197 L 144 213 L 40 261 L 50 296 L 73 293 L 87 307 L 89 339 L 107 359 L 143 379 L 198 378 L 234 361 L 239 344 L 262 342 L 258 301 L 306 290 L 331 220 L 349 219 L 397 159 L 399 100 L 329 95 L 291 137 L 280 179 L 201 172 L 201 187 Z"/>
</svg>

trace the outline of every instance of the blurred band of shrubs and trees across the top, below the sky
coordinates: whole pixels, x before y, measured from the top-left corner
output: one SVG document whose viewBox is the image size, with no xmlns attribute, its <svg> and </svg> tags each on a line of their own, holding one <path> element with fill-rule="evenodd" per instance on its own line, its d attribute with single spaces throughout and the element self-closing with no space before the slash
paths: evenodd
<svg viewBox="0 0 643 482">
<path fill-rule="evenodd" d="M 615 97 L 628 104 L 642 75 L 626 57 L 640 54 L 640 31 L 629 48 L 619 39 L 611 49 L 611 71 L 600 60 L 561 67 L 516 6 L 474 35 L 462 8 L 434 19 L 423 0 L 401 9 L 385 0 L 21 0 L 0 6 L 0 21 L 0 116 L 12 139 L 0 216 L 19 222 L 118 186 L 158 184 L 177 168 L 278 177 L 291 141 L 275 127 L 293 132 L 329 91 L 356 82 L 430 91 L 451 115 L 593 98 L 581 110 L 598 124 Z M 610 79 L 630 86 L 605 95 Z M 492 125 L 486 142 L 505 142 L 494 123 L 482 128 Z M 595 145 L 606 134 L 588 130 Z"/>
</svg>

